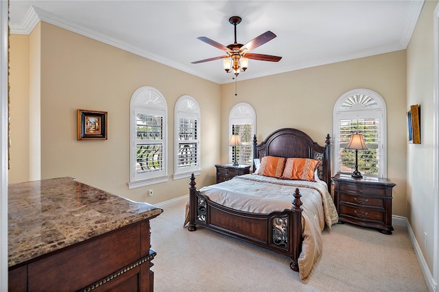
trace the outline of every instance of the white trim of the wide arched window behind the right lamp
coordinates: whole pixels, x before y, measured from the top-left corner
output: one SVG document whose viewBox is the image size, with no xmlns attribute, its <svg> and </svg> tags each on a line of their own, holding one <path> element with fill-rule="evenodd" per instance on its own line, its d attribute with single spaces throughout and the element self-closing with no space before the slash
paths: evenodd
<svg viewBox="0 0 439 292">
<path fill-rule="evenodd" d="M 353 95 L 367 95 L 375 100 L 377 106 L 374 108 L 367 108 L 366 106 L 356 105 L 351 109 L 342 108 L 344 101 Z M 379 93 L 367 88 L 356 88 L 344 93 L 335 102 L 333 108 L 333 173 L 340 170 L 340 119 L 362 119 L 365 112 L 370 112 L 371 117 L 378 117 L 380 123 L 379 135 L 381 138 L 380 160 L 379 160 L 379 178 L 387 178 L 387 109 L 385 101 Z M 367 174 L 363 173 L 367 177 Z"/>
</svg>

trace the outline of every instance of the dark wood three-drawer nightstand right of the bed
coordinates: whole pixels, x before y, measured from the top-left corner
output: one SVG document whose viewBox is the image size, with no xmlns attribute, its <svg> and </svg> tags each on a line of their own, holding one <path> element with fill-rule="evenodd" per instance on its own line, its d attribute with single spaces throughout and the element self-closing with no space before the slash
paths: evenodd
<svg viewBox="0 0 439 292">
<path fill-rule="evenodd" d="M 392 188 L 385 178 L 355 179 L 337 173 L 333 178 L 339 223 L 353 223 L 392 234 Z"/>
</svg>

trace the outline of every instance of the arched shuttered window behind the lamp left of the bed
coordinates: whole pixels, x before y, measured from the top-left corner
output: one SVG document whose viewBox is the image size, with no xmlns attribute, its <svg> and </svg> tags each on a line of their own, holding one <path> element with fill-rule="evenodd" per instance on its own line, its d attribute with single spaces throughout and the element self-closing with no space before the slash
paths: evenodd
<svg viewBox="0 0 439 292">
<path fill-rule="evenodd" d="M 250 104 L 241 102 L 233 106 L 228 115 L 228 138 L 233 134 L 239 134 L 241 146 L 229 147 L 229 162 L 235 161 L 241 165 L 252 165 L 253 160 L 253 136 L 256 133 L 256 112 Z M 236 152 L 235 152 L 236 147 Z"/>
</svg>

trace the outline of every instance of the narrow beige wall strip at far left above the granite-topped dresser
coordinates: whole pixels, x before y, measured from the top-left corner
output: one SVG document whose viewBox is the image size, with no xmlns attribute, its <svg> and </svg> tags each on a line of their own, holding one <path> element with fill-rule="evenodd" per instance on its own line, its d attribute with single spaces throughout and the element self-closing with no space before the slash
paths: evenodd
<svg viewBox="0 0 439 292">
<path fill-rule="evenodd" d="M 29 36 L 10 38 L 10 183 L 29 180 Z"/>
</svg>

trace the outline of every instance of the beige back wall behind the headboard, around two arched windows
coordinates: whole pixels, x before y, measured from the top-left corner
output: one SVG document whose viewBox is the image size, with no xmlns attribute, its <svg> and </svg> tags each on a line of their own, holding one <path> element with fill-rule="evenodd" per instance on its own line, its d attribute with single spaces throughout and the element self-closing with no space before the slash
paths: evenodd
<svg viewBox="0 0 439 292">
<path fill-rule="evenodd" d="M 278 128 L 296 127 L 324 145 L 325 136 L 333 136 L 335 101 L 355 88 L 375 90 L 387 106 L 388 178 L 396 183 L 392 213 L 405 217 L 405 59 L 403 50 L 242 81 L 237 84 L 237 97 L 235 84 L 225 84 L 221 97 L 221 139 L 228 138 L 230 109 L 238 102 L 247 102 L 256 111 L 259 142 Z M 222 143 L 223 162 L 227 161 L 227 153 L 228 147 Z"/>
</svg>

